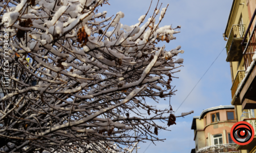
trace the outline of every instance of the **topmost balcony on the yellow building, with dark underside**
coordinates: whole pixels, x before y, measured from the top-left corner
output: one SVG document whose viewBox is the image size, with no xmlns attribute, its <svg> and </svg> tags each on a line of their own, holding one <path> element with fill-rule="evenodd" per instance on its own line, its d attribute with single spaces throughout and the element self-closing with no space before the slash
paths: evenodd
<svg viewBox="0 0 256 153">
<path fill-rule="evenodd" d="M 226 51 L 228 56 L 227 62 L 240 61 L 242 59 L 243 48 L 241 42 L 245 36 L 245 24 L 234 24 L 230 30 Z"/>
</svg>

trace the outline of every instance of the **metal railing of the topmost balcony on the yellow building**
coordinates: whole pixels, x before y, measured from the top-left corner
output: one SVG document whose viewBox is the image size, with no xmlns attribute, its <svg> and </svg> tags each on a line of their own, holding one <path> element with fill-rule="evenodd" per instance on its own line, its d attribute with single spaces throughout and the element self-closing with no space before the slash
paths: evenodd
<svg viewBox="0 0 256 153">
<path fill-rule="evenodd" d="M 232 42 L 236 38 L 245 36 L 245 24 L 234 24 L 230 30 L 228 42 L 226 43 L 226 51 L 229 52 Z"/>
</svg>

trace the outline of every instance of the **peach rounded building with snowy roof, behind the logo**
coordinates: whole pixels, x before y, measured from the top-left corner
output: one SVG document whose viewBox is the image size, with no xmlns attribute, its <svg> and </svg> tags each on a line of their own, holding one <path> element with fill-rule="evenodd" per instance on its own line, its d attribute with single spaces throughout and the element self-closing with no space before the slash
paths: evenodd
<svg viewBox="0 0 256 153">
<path fill-rule="evenodd" d="M 191 153 L 238 152 L 230 136 L 235 123 L 233 105 L 208 108 L 200 116 L 194 116 L 191 129 L 194 130 L 195 148 Z"/>
</svg>

